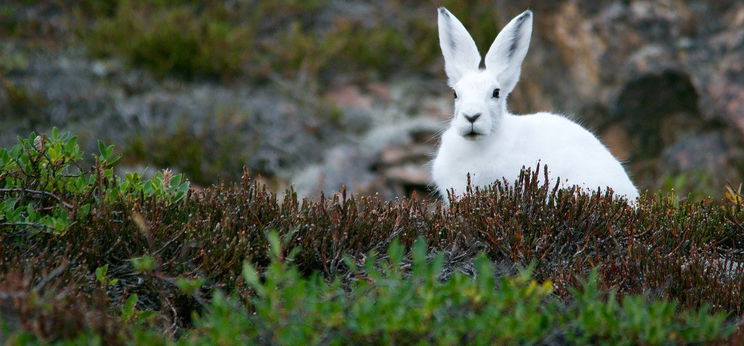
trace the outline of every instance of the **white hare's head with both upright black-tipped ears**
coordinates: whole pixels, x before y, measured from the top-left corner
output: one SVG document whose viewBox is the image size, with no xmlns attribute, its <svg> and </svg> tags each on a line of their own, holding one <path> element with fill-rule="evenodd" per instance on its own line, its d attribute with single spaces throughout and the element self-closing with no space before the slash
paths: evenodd
<svg viewBox="0 0 744 346">
<path fill-rule="evenodd" d="M 455 92 L 451 126 L 469 140 L 490 135 L 506 114 L 506 98 L 519 80 L 522 60 L 532 34 L 532 11 L 512 19 L 481 55 L 460 21 L 439 8 L 439 44 L 444 55 L 448 84 Z"/>
</svg>

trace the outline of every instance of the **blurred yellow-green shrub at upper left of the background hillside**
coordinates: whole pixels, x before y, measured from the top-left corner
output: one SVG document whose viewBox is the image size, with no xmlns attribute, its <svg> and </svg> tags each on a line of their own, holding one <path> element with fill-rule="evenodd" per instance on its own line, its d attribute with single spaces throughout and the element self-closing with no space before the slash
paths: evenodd
<svg viewBox="0 0 744 346">
<path fill-rule="evenodd" d="M 95 23 L 86 37 L 90 50 L 125 57 L 158 76 L 231 77 L 241 71 L 253 39 L 219 16 L 198 15 L 189 2 L 119 1 L 114 13 Z"/>
</svg>

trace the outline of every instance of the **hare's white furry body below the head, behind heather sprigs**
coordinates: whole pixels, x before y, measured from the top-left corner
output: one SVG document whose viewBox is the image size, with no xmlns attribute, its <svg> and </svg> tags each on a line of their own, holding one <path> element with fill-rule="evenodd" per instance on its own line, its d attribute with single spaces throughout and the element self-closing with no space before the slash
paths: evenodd
<svg viewBox="0 0 744 346">
<path fill-rule="evenodd" d="M 539 136 L 534 136 L 541 129 Z M 450 128 L 434 160 L 433 179 L 439 193 L 452 189 L 462 194 L 470 174 L 473 186 L 486 186 L 506 178 L 515 181 L 521 168 L 547 166 L 551 184 L 560 178 L 587 190 L 612 187 L 629 199 L 638 197 L 622 165 L 589 131 L 550 113 L 506 115 L 490 140 L 471 141 Z M 546 150 L 547 149 L 547 150 Z M 472 155 L 478 152 L 478 155 Z M 453 163 L 457 164 L 453 164 Z M 542 174 L 539 176 L 542 179 Z M 564 184 L 565 186 L 565 184 Z"/>
</svg>

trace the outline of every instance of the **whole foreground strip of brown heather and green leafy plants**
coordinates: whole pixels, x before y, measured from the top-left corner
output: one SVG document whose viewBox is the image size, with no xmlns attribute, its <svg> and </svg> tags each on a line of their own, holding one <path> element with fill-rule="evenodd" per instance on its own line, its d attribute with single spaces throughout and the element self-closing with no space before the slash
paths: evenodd
<svg viewBox="0 0 744 346">
<path fill-rule="evenodd" d="M 453 198 L 282 198 L 114 174 L 53 131 L 0 149 L 3 341 L 123 344 L 741 340 L 744 199 L 637 206 L 538 184 Z M 496 323 L 495 321 L 498 321 Z"/>
</svg>

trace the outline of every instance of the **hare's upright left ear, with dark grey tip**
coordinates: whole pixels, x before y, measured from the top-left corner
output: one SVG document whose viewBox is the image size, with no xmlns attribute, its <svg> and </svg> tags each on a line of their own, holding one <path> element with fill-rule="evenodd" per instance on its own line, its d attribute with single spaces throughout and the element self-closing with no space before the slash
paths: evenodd
<svg viewBox="0 0 744 346">
<path fill-rule="evenodd" d="M 446 8 L 439 8 L 439 45 L 444 55 L 447 84 L 453 86 L 462 76 L 477 70 L 481 56 L 465 26 Z"/>
</svg>

